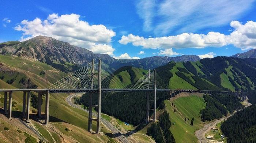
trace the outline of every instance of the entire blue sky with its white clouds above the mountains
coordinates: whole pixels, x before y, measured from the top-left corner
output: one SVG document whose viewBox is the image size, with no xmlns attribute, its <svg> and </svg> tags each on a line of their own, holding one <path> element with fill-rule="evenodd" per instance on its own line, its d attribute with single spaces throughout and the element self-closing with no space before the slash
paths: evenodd
<svg viewBox="0 0 256 143">
<path fill-rule="evenodd" d="M 45 35 L 117 59 L 231 56 L 256 48 L 255 13 L 255 0 L 3 0 L 0 42 Z"/>
</svg>

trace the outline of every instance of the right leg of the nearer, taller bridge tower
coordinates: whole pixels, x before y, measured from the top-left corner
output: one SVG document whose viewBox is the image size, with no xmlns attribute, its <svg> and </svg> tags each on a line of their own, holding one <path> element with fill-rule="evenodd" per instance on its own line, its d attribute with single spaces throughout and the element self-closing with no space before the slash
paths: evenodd
<svg viewBox="0 0 256 143">
<path fill-rule="evenodd" d="M 97 119 L 97 133 L 101 133 L 101 60 L 99 60 L 99 75 L 98 75 L 98 119 Z"/>
</svg>

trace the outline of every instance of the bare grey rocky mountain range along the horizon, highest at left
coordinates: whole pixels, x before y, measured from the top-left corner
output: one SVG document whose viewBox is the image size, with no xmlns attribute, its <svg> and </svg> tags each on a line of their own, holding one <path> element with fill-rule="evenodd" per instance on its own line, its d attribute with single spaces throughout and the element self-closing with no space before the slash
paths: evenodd
<svg viewBox="0 0 256 143">
<path fill-rule="evenodd" d="M 143 59 L 114 59 L 107 54 L 93 53 L 86 48 L 77 47 L 67 42 L 56 40 L 52 37 L 37 36 L 27 41 L 8 41 L 0 43 L 1 55 L 14 55 L 26 57 L 52 65 L 61 71 L 68 72 L 77 69 L 77 65 L 85 65 L 92 59 L 102 59 L 113 69 L 123 66 L 138 68 L 156 68 L 169 61 L 197 61 L 195 55 L 182 55 L 177 57 L 146 57 Z"/>
</svg>

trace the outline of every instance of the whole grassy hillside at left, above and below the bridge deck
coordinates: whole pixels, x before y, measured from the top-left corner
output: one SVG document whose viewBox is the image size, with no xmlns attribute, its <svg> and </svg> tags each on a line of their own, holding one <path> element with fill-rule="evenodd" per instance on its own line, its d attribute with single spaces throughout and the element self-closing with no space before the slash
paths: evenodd
<svg viewBox="0 0 256 143">
<path fill-rule="evenodd" d="M 50 65 L 41 63 L 36 60 L 26 59 L 23 57 L 0 55 L 0 64 L 0 88 L 27 88 L 25 86 L 28 85 L 28 79 L 30 81 L 29 85 L 36 85 L 38 88 L 45 88 L 56 82 L 57 80 L 60 80 L 61 78 L 67 76 L 67 74 L 65 74 L 64 72 L 56 70 Z M 10 84 L 8 84 L 7 82 L 10 82 L 10 80 L 12 81 Z M 37 95 L 37 93 L 35 92 L 33 92 L 33 94 Z M 3 95 L 4 93 L 0 92 L 1 101 L 3 101 Z M 74 134 L 71 134 L 69 136 L 75 139 L 75 135 L 77 133 L 77 135 L 80 136 L 78 138 L 79 142 L 82 141 L 82 138 L 87 138 L 88 142 L 102 142 L 102 140 L 105 140 L 107 142 L 107 136 L 103 135 L 99 138 L 98 136 L 87 132 L 88 114 L 82 110 L 69 106 L 69 104 L 65 101 L 65 98 L 67 96 L 68 94 L 50 94 L 50 123 L 58 123 L 54 124 L 56 128 L 60 127 L 58 131 L 64 130 L 65 127 L 71 127 L 71 124 L 74 125 L 74 131 L 72 131 Z M 42 112 L 44 112 L 45 96 L 43 96 L 42 98 Z M 13 103 L 16 102 L 15 107 L 12 108 L 14 116 L 16 113 L 18 113 L 16 116 L 19 116 L 19 112 L 22 111 L 22 99 L 22 92 L 13 93 Z M 3 102 L 0 102 L 0 106 L 3 107 Z M 30 107 L 30 111 L 32 110 L 37 111 L 37 109 Z M 32 114 L 32 112 L 30 112 L 30 114 Z M 103 124 L 101 126 L 102 132 L 110 132 L 109 129 L 107 129 Z M 80 133 L 76 128 L 80 128 L 79 131 L 83 133 Z M 93 122 L 93 130 L 96 130 L 95 122 Z M 45 130 L 42 129 L 39 131 L 42 131 L 41 134 L 44 134 L 45 132 Z"/>
</svg>

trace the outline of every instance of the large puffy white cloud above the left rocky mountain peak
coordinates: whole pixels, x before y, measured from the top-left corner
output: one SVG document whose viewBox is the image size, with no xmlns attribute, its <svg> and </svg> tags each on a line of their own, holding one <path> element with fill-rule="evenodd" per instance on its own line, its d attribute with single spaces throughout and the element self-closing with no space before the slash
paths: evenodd
<svg viewBox="0 0 256 143">
<path fill-rule="evenodd" d="M 80 15 L 74 13 L 61 16 L 53 13 L 45 20 L 23 20 L 15 30 L 23 31 L 20 41 L 43 35 L 87 48 L 95 53 L 113 55 L 115 49 L 110 42 L 116 33 L 102 24 L 90 25 L 87 21 L 79 20 L 79 17 Z"/>
</svg>

